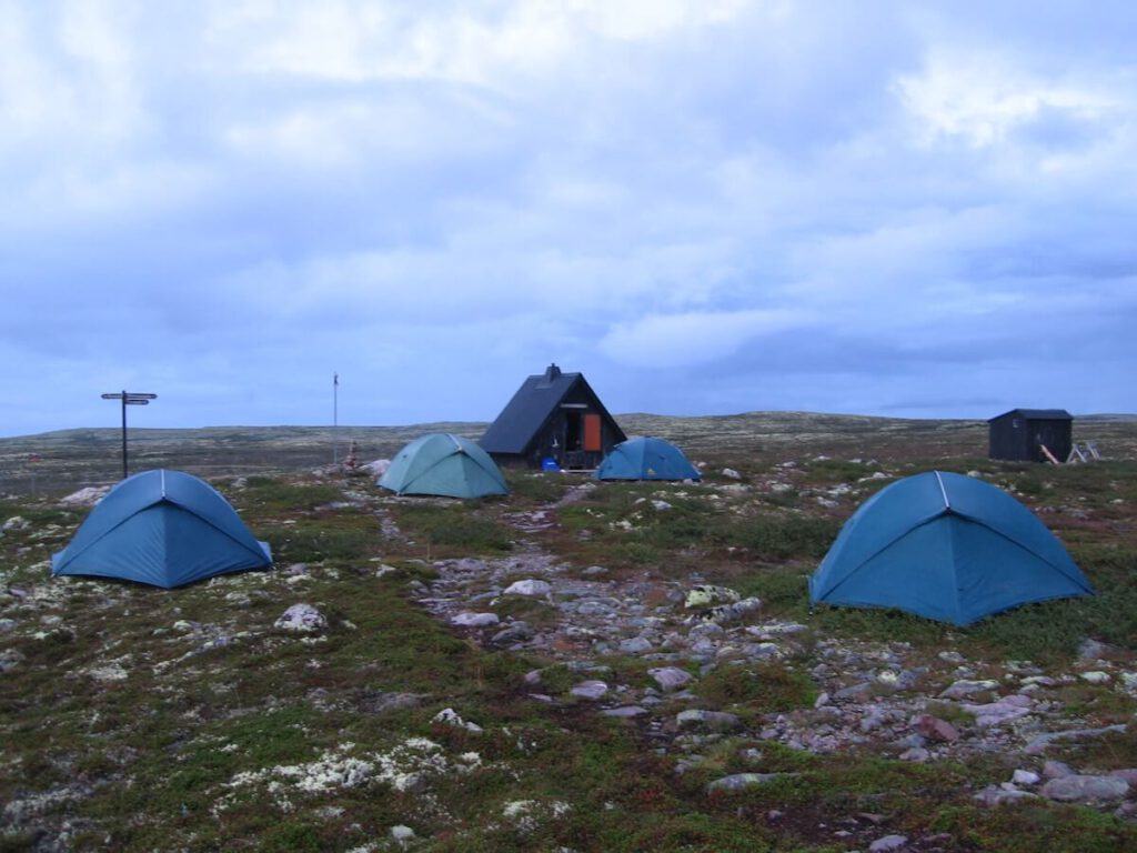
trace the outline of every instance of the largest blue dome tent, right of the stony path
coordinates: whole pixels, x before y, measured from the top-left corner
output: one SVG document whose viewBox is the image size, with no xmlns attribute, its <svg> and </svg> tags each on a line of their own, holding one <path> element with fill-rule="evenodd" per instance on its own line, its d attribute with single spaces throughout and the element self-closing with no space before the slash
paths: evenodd
<svg viewBox="0 0 1137 853">
<path fill-rule="evenodd" d="M 1030 510 L 982 480 L 939 471 L 862 504 L 810 579 L 812 602 L 897 607 L 957 626 L 1093 594 Z"/>
</svg>

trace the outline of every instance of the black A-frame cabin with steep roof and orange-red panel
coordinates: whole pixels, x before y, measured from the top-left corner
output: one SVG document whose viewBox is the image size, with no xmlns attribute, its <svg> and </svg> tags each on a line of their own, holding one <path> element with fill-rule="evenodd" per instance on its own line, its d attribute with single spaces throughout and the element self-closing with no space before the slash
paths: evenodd
<svg viewBox="0 0 1137 853">
<path fill-rule="evenodd" d="M 478 442 L 499 465 L 590 470 L 621 441 L 623 430 L 581 373 L 550 364 L 526 379 Z"/>
</svg>

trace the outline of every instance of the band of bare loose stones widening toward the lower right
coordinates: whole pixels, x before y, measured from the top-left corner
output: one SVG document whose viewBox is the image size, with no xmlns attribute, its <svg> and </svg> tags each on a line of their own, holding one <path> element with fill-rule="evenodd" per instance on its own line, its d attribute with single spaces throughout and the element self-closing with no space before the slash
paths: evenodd
<svg viewBox="0 0 1137 853">
<path fill-rule="evenodd" d="M 546 510 L 511 521 L 523 533 L 550 524 Z M 806 624 L 764 618 L 760 599 L 700 583 L 698 577 L 615 580 L 603 565 L 565 565 L 531 539 L 523 539 L 518 552 L 499 560 L 439 561 L 438 580 L 417 585 L 416 599 L 487 647 L 563 664 L 573 673 L 570 697 L 587 701 L 597 714 L 633 720 L 658 754 L 677 760 L 677 773 L 698 765 L 728 738 L 818 754 L 870 751 L 915 763 L 997 754 L 1013 769 L 1001 784 L 974 793 L 985 805 L 1043 797 L 1137 819 L 1137 768 L 1071 767 L 1048 756 L 1053 745 L 1126 729 L 1088 724 L 1054 695 L 1054 688 L 1080 682 L 1137 696 L 1137 664 L 1119 647 L 1087 639 L 1070 666 L 1047 671 L 1030 661 L 969 661 L 952 649 L 929 656 L 908 643 L 819 639 Z M 487 608 L 511 596 L 547 604 L 555 616 L 534 627 Z M 645 662 L 654 684 L 621 679 L 606 663 L 613 655 Z M 717 669 L 772 661 L 808 677 L 819 694 L 811 707 L 744 720 L 691 691 Z M 530 672 L 526 684 L 534 702 L 563 701 L 542 691 L 542 670 Z M 753 771 L 716 778 L 708 790 L 780 776 L 763 772 L 761 746 L 746 752 Z M 945 838 L 901 840 L 879 833 L 879 822 L 849 815 L 849 826 L 862 831 L 845 827 L 833 836 L 879 836 L 869 850 L 945 848 Z"/>
</svg>

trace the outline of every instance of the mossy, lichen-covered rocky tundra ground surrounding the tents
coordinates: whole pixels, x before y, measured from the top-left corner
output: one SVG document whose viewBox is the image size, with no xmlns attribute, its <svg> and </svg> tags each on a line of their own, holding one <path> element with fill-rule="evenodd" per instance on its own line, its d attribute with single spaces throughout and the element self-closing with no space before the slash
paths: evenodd
<svg viewBox="0 0 1137 853">
<path fill-rule="evenodd" d="M 619 420 L 704 481 L 398 498 L 319 469 L 326 430 L 139 431 L 133 467 L 206 477 L 274 552 L 176 590 L 50 577 L 114 430 L 0 440 L 0 851 L 1137 848 L 1137 422 L 1076 421 L 1105 459 L 1055 467 L 972 422 Z M 811 612 L 844 520 L 932 467 L 1097 595 Z"/>
</svg>

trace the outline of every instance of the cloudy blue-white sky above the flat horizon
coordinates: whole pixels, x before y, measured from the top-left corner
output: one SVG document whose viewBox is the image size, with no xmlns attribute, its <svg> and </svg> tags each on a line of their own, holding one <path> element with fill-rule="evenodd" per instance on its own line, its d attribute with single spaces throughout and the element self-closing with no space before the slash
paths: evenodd
<svg viewBox="0 0 1137 853">
<path fill-rule="evenodd" d="M 0 434 L 1134 412 L 1131 0 L 0 0 Z"/>
</svg>

